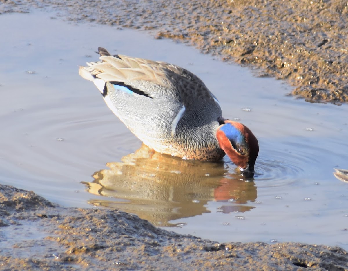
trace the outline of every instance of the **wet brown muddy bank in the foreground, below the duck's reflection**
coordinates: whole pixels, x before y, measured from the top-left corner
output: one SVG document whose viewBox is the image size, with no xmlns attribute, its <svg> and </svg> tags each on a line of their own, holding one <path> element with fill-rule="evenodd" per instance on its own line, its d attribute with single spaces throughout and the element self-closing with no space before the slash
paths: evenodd
<svg viewBox="0 0 348 271">
<path fill-rule="evenodd" d="M 64 208 L 0 185 L 0 270 L 348 270 L 339 247 L 219 244 L 116 210 Z"/>
</svg>

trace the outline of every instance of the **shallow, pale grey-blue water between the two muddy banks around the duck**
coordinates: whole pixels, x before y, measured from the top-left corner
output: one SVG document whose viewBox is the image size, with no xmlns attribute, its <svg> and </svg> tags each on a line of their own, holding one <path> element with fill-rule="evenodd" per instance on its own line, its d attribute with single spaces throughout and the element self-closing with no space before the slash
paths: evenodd
<svg viewBox="0 0 348 271">
<path fill-rule="evenodd" d="M 296 100 L 280 81 L 147 33 L 51 16 L 0 16 L 12 26 L 0 28 L 1 183 L 65 206 L 126 210 L 219 242 L 348 249 L 348 185 L 332 175 L 334 167 L 348 168 L 347 105 Z M 235 175 L 228 158 L 199 163 L 137 151 L 139 139 L 78 75 L 79 65 L 97 60 L 98 46 L 198 75 L 224 117 L 240 119 L 258 137 L 254 180 Z"/>
</svg>

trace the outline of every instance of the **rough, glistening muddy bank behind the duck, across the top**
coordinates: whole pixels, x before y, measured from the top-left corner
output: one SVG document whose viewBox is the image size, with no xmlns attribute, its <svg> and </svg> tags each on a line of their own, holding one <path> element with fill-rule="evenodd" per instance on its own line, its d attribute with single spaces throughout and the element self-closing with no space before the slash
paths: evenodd
<svg viewBox="0 0 348 271">
<path fill-rule="evenodd" d="M 0 13 L 33 7 L 54 7 L 74 22 L 152 30 L 286 79 L 309 101 L 348 101 L 345 1 L 3 1 Z"/>
</svg>

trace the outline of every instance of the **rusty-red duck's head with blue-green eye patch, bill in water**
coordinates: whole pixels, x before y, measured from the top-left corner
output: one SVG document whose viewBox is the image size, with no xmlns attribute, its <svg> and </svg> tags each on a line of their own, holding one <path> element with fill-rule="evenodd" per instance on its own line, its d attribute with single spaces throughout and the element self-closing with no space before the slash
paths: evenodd
<svg viewBox="0 0 348 271">
<path fill-rule="evenodd" d="M 245 125 L 224 120 L 216 132 L 221 149 L 246 177 L 254 176 L 254 165 L 259 154 L 259 143 Z"/>
</svg>

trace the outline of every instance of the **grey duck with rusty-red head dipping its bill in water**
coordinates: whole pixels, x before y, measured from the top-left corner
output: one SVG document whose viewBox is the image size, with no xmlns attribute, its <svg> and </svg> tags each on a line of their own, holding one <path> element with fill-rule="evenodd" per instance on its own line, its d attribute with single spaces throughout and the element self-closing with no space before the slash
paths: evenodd
<svg viewBox="0 0 348 271">
<path fill-rule="evenodd" d="M 163 61 L 111 55 L 80 66 L 106 105 L 151 150 L 188 160 L 220 161 L 227 154 L 240 174 L 254 176 L 259 143 L 240 122 L 225 119 L 219 101 L 187 69 Z"/>
</svg>

